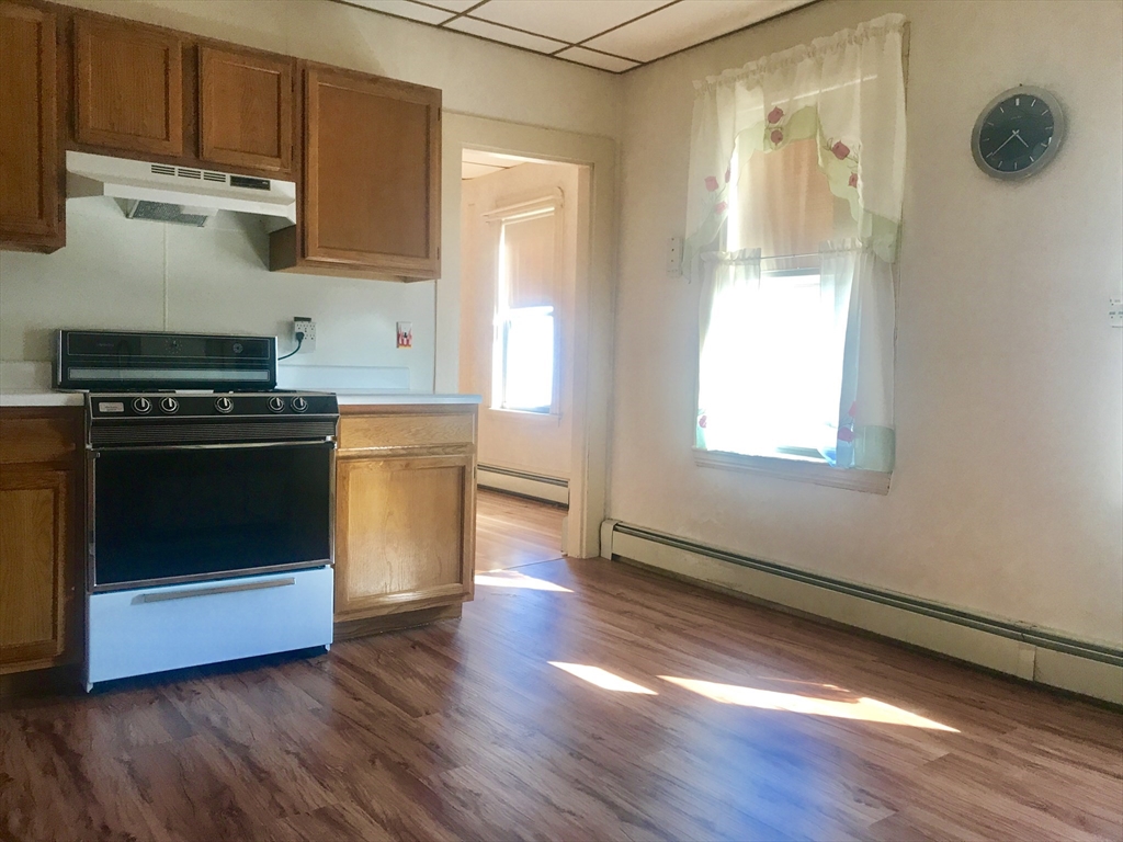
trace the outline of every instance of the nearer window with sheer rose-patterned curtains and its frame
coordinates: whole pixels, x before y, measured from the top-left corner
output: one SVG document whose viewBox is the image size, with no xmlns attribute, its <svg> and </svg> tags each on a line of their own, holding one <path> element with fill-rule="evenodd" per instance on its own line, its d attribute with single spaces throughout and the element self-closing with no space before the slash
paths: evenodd
<svg viewBox="0 0 1123 842">
<path fill-rule="evenodd" d="M 904 27 L 888 15 L 696 83 L 701 451 L 893 467 Z"/>
</svg>

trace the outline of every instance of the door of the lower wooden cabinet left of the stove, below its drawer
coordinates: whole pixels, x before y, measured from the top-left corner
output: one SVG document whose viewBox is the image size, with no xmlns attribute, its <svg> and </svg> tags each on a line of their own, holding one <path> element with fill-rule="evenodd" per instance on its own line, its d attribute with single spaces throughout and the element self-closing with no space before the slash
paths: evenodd
<svg viewBox="0 0 1123 842">
<path fill-rule="evenodd" d="M 63 652 L 69 476 L 61 470 L 0 477 L 0 669 Z"/>
</svg>

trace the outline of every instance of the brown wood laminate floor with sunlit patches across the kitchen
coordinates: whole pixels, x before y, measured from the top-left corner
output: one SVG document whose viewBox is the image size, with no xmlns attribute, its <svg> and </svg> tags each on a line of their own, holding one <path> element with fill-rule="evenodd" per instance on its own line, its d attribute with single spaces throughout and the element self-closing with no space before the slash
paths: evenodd
<svg viewBox="0 0 1123 842">
<path fill-rule="evenodd" d="M 0 839 L 1123 838 L 1116 712 L 502 547 L 458 621 L 9 704 Z"/>
</svg>

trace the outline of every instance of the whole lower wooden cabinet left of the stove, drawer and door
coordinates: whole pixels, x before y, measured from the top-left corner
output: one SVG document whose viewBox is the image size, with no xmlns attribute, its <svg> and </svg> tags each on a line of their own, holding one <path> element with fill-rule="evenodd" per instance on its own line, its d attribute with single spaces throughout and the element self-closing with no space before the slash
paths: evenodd
<svg viewBox="0 0 1123 842">
<path fill-rule="evenodd" d="M 0 411 L 0 675 L 77 649 L 81 411 Z"/>
</svg>

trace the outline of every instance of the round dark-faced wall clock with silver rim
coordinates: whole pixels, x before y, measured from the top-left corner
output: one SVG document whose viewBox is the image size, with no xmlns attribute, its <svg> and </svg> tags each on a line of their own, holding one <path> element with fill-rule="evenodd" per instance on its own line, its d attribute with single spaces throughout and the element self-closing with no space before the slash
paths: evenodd
<svg viewBox="0 0 1123 842">
<path fill-rule="evenodd" d="M 1041 88 L 1012 88 L 975 121 L 971 154 L 987 175 L 1024 179 L 1057 156 L 1063 138 L 1065 115 L 1056 97 Z"/>
</svg>

